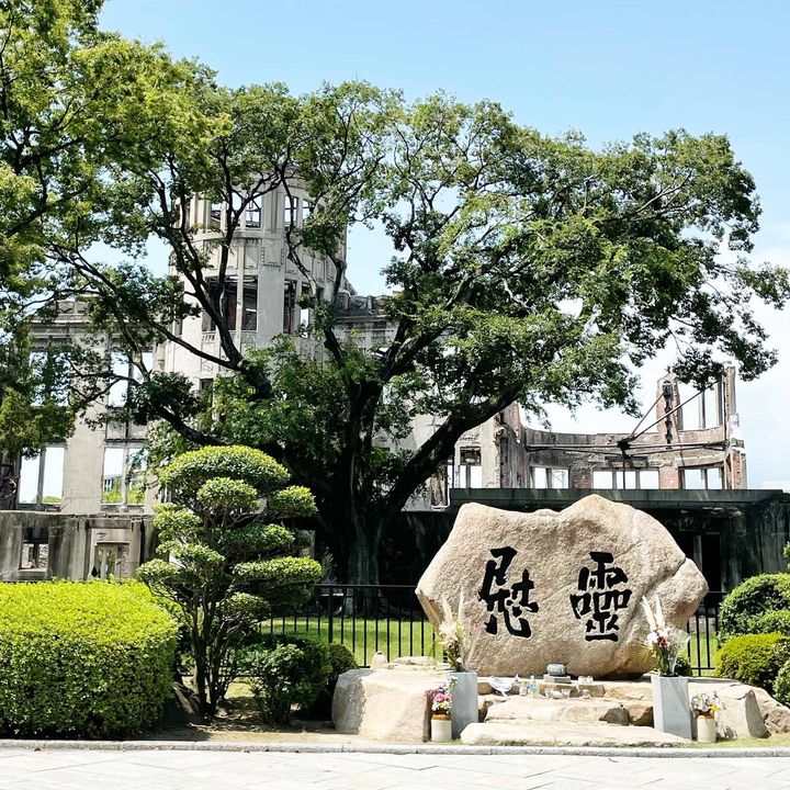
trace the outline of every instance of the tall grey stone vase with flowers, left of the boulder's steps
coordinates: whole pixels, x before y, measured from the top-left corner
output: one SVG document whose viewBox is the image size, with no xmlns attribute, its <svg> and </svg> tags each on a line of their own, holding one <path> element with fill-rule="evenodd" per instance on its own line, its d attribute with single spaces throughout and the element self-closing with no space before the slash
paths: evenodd
<svg viewBox="0 0 790 790">
<path fill-rule="evenodd" d="M 452 667 L 447 677 L 453 696 L 452 736 L 456 738 L 467 724 L 478 720 L 477 673 L 469 669 L 467 662 L 483 627 L 464 619 L 463 594 L 459 598 L 455 614 L 447 598 L 442 598 L 441 606 L 442 619 L 438 628 L 438 641 Z"/>
</svg>

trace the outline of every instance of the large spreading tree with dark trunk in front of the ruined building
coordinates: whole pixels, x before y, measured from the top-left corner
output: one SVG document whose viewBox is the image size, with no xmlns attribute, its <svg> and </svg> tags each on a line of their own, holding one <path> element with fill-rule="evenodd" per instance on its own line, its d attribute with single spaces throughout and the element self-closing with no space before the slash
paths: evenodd
<svg viewBox="0 0 790 790">
<path fill-rule="evenodd" d="M 228 90 L 196 66 L 172 68 L 161 99 L 143 80 L 148 90 L 119 119 L 114 163 L 36 241 L 58 285 L 82 294 L 138 362 L 135 418 L 163 419 L 195 444 L 275 455 L 315 493 L 320 537 L 348 580 L 376 579 L 387 521 L 464 431 L 514 400 L 533 413 L 585 398 L 634 408 L 631 366 L 667 345 L 699 383 L 724 357 L 745 379 L 775 359 L 752 301 L 783 304 L 788 273 L 746 259 L 759 206 L 724 136 L 677 131 L 594 150 L 492 102 L 408 103 L 364 82 L 304 97 L 281 84 Z M 138 134 L 145 146 L 128 143 Z M 229 250 L 251 201 L 296 184 L 315 210 L 285 229 L 286 253 L 311 286 L 304 334 L 323 356 L 301 359 L 287 342 L 246 356 L 226 314 Z M 208 242 L 189 224 L 194 194 L 221 206 Z M 370 353 L 338 330 L 334 301 L 356 224 L 382 227 L 393 247 L 383 303 L 396 330 Z M 168 276 L 139 260 L 151 236 L 170 249 Z M 127 262 L 99 262 L 97 241 Z M 336 266 L 328 302 L 306 251 Z M 201 312 L 218 354 L 172 331 Z M 145 370 L 143 350 L 160 340 L 226 371 L 211 408 L 181 374 Z M 101 364 L 88 371 L 97 381 Z M 420 415 L 437 428 L 410 445 Z"/>
</svg>

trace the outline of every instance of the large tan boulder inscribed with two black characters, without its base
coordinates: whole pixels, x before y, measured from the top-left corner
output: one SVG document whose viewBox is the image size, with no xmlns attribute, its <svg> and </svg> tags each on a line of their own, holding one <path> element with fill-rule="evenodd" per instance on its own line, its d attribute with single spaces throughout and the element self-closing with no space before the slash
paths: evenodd
<svg viewBox="0 0 790 790">
<path fill-rule="evenodd" d="M 704 577 L 653 517 L 591 495 L 555 512 L 464 505 L 417 596 L 435 628 L 442 601 L 481 633 L 466 658 L 479 675 L 622 677 L 651 669 L 643 597 L 686 628 Z"/>
</svg>

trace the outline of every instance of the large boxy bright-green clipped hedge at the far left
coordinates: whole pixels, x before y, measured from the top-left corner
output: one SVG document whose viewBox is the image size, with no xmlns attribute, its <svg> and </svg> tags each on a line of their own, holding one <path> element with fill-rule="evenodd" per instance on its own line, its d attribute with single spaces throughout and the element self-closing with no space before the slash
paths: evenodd
<svg viewBox="0 0 790 790">
<path fill-rule="evenodd" d="M 136 582 L 0 584 L 0 731 L 112 737 L 155 724 L 176 624 Z"/>
</svg>

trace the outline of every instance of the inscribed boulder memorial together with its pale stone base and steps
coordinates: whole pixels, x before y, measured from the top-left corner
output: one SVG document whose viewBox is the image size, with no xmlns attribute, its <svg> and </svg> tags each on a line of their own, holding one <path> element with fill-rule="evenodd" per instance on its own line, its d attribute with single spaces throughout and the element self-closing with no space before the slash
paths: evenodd
<svg viewBox="0 0 790 790">
<path fill-rule="evenodd" d="M 464 505 L 417 595 L 447 658 L 477 673 L 472 716 L 464 704 L 456 731 L 453 676 L 465 682 L 471 673 L 445 673 L 450 664 L 431 656 L 377 655 L 371 668 L 338 679 L 335 726 L 376 740 L 427 740 L 437 712 L 426 697 L 447 685 L 453 737 L 464 744 L 688 744 L 691 732 L 681 736 L 658 721 L 666 711 L 663 700 L 656 708 L 657 676 L 644 675 L 656 661 L 645 642 L 645 610 L 654 607 L 665 627 L 685 630 L 707 590 L 666 529 L 628 505 L 596 495 L 562 512 Z M 453 646 L 447 639 L 459 628 L 469 637 L 464 651 L 456 650 L 464 640 Z M 699 693 L 721 699 L 720 737 L 790 730 L 790 710 L 761 689 L 718 678 L 682 686 L 689 702 Z M 690 707 L 680 700 L 678 710 L 690 727 Z"/>
</svg>

